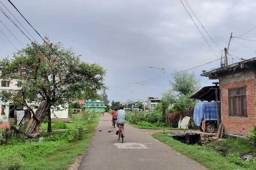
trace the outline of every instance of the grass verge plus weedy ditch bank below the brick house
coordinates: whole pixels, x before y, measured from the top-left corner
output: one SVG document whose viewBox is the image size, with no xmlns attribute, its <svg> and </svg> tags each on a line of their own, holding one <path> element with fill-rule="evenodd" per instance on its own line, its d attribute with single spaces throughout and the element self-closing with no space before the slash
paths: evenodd
<svg viewBox="0 0 256 170">
<path fill-rule="evenodd" d="M 256 148 L 251 146 L 247 139 L 226 139 L 224 142 L 211 142 L 206 146 L 188 145 L 181 143 L 166 133 L 154 133 L 153 137 L 172 147 L 177 152 L 190 159 L 195 160 L 208 170 L 255 170 L 256 160 L 242 161 L 240 153 L 256 153 Z M 245 147 L 244 147 L 245 146 Z M 221 150 L 225 149 L 228 153 L 224 156 Z M 249 149 L 249 150 L 248 150 Z"/>
</svg>

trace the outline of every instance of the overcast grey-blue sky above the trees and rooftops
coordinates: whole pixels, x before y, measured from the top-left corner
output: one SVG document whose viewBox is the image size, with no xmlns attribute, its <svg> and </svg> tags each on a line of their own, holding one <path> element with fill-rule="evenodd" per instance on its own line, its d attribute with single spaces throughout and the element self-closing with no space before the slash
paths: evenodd
<svg viewBox="0 0 256 170">
<path fill-rule="evenodd" d="M 110 102 L 160 99 L 175 71 L 194 73 L 202 87 L 212 85 L 217 80 L 200 74 L 221 66 L 231 32 L 228 64 L 256 57 L 254 0 L 11 2 L 42 37 L 105 68 Z M 12 58 L 30 40 L 43 42 L 8 0 L 0 0 L 0 9 L 0 59 Z M 2 11 L 17 19 L 27 37 Z"/>
</svg>

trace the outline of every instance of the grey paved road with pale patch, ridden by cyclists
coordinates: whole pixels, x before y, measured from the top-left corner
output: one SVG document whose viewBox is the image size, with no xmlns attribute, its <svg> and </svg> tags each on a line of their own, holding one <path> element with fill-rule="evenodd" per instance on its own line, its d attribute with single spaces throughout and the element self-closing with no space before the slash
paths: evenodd
<svg viewBox="0 0 256 170">
<path fill-rule="evenodd" d="M 95 130 L 79 170 L 206 170 L 128 124 L 125 124 L 124 143 L 121 143 L 108 113 L 99 119 Z"/>
</svg>

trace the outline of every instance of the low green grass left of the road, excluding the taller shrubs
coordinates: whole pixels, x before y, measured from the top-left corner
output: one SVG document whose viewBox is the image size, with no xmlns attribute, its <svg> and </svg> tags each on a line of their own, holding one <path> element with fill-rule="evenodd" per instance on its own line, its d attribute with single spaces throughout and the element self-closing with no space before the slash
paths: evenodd
<svg viewBox="0 0 256 170">
<path fill-rule="evenodd" d="M 17 164 L 21 162 L 20 170 L 66 170 L 74 163 L 77 156 L 84 155 L 89 147 L 90 140 L 94 133 L 94 127 L 98 125 L 99 117 L 91 124 L 85 124 L 84 135 L 77 142 L 67 142 L 67 140 L 57 140 L 55 142 L 30 142 L 16 143 L 0 146 L 0 161 L 6 160 L 8 157 L 17 158 Z M 73 118 L 72 122 L 65 123 L 67 128 L 75 127 L 75 123 L 84 123 L 80 118 Z M 47 124 L 42 125 L 47 129 Z M 52 131 L 51 133 L 41 133 L 41 136 L 49 136 L 61 134 L 60 131 Z M 9 160 L 10 164 L 13 163 Z M 5 168 L 6 169 L 6 168 Z M 2 168 L 0 167 L 0 170 Z"/>
</svg>

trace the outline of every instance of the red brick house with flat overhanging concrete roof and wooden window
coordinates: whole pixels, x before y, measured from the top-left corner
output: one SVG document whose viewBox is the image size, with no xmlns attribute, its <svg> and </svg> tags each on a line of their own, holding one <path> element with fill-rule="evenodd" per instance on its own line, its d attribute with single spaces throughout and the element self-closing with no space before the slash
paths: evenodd
<svg viewBox="0 0 256 170">
<path fill-rule="evenodd" d="M 249 135 L 256 125 L 256 57 L 201 74 L 219 80 L 224 132 Z"/>
</svg>

